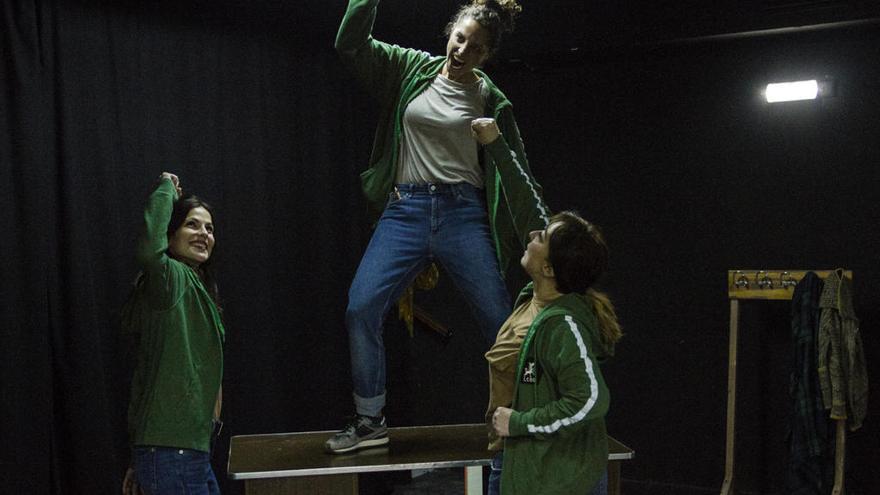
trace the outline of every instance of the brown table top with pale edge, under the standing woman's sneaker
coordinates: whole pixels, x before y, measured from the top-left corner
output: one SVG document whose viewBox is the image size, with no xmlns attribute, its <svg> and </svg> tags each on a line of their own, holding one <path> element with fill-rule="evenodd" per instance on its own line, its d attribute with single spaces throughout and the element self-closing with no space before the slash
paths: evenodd
<svg viewBox="0 0 880 495">
<path fill-rule="evenodd" d="M 389 428 L 389 443 L 345 454 L 324 451 L 335 431 L 238 435 L 229 444 L 229 477 L 236 480 L 487 466 L 486 425 Z M 610 460 L 633 457 L 608 437 Z"/>
</svg>

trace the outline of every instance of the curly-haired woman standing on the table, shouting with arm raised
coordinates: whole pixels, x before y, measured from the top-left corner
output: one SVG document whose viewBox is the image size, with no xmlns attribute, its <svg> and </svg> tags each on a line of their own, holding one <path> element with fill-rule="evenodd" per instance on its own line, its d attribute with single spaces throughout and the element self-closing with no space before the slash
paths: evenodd
<svg viewBox="0 0 880 495">
<path fill-rule="evenodd" d="M 510 313 L 502 274 L 547 209 L 532 178 L 510 101 L 478 69 L 513 29 L 515 0 L 474 0 L 447 26 L 445 56 L 371 36 L 379 0 L 350 0 L 336 38 L 343 61 L 380 104 L 361 174 L 376 230 L 349 290 L 356 416 L 327 450 L 388 442 L 382 324 L 432 261 L 471 305 L 487 343 Z"/>
</svg>

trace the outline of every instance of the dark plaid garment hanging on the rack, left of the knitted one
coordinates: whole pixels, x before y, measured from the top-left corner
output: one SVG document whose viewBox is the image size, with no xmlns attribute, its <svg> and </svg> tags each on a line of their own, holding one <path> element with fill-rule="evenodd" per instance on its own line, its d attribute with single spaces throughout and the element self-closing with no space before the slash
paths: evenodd
<svg viewBox="0 0 880 495">
<path fill-rule="evenodd" d="M 789 462 L 785 477 L 789 494 L 824 495 L 830 493 L 834 483 L 831 422 L 823 407 L 816 372 L 822 286 L 822 279 L 808 272 L 792 295 L 792 410 L 786 435 Z"/>
</svg>

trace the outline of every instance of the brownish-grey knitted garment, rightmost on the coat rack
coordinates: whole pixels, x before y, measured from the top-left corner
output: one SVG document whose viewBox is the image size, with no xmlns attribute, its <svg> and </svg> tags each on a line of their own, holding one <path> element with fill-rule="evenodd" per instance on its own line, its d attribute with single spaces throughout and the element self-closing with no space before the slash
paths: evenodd
<svg viewBox="0 0 880 495">
<path fill-rule="evenodd" d="M 846 418 L 850 431 L 862 426 L 868 412 L 868 371 L 852 304 L 852 282 L 843 270 L 825 278 L 819 301 L 819 381 L 832 419 Z"/>
</svg>

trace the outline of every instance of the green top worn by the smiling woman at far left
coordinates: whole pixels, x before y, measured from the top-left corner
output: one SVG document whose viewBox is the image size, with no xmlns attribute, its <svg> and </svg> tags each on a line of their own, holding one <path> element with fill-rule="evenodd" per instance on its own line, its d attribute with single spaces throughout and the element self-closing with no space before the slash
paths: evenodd
<svg viewBox="0 0 880 495">
<path fill-rule="evenodd" d="M 132 445 L 208 452 L 224 330 L 196 272 L 166 254 L 175 199 L 169 180 L 150 195 L 137 252 L 143 276 L 123 310 L 123 329 L 139 336 L 129 438 Z"/>
</svg>

